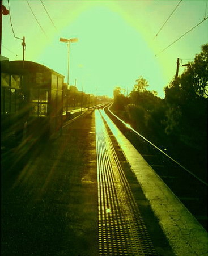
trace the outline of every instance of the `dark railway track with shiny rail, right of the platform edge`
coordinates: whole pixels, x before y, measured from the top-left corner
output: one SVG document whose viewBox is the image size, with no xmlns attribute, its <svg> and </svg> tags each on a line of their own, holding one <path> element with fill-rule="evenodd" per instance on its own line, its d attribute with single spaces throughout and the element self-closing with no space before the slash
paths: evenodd
<svg viewBox="0 0 208 256">
<path fill-rule="evenodd" d="M 207 230 L 207 183 L 139 135 L 130 125 L 114 115 L 109 107 L 105 107 L 105 112 L 182 204 Z"/>
</svg>

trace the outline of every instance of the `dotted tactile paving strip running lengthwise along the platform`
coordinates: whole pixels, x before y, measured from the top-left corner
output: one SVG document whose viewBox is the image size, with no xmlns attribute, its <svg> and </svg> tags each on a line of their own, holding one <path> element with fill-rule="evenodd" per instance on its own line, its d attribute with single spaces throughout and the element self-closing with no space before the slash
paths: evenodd
<svg viewBox="0 0 208 256">
<path fill-rule="evenodd" d="M 95 115 L 99 255 L 157 255 L 99 110 Z"/>
</svg>

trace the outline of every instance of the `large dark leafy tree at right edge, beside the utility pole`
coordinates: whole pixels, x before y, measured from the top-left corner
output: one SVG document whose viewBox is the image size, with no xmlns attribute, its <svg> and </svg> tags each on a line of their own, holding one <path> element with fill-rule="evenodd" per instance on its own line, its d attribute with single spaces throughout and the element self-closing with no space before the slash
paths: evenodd
<svg viewBox="0 0 208 256">
<path fill-rule="evenodd" d="M 194 62 L 165 87 L 166 129 L 193 147 L 207 137 L 208 44 L 202 46 Z M 201 144 L 201 145 L 200 145 Z"/>
</svg>

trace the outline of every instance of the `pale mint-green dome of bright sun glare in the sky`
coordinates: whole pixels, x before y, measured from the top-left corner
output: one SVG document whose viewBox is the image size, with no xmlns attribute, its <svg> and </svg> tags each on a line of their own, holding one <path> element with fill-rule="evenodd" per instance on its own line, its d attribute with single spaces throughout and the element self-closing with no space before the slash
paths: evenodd
<svg viewBox="0 0 208 256">
<path fill-rule="evenodd" d="M 130 91 L 139 75 L 148 78 L 146 66 L 155 65 L 158 73 L 151 49 L 141 33 L 106 4 L 83 9 L 59 35 L 79 39 L 70 44 L 70 84 L 77 79 L 79 90 L 83 88 L 87 93 L 97 90 L 97 94 L 112 97 L 114 87 L 128 87 Z M 37 61 L 46 66 L 53 63 L 53 69 L 67 77 L 67 44 L 54 36 Z"/>
</svg>

